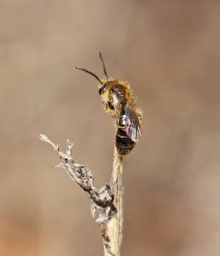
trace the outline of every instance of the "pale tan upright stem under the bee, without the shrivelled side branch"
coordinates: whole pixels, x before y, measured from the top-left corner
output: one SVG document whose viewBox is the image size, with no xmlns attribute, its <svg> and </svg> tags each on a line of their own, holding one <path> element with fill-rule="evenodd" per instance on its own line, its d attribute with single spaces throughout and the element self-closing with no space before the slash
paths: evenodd
<svg viewBox="0 0 220 256">
<path fill-rule="evenodd" d="M 114 216 L 104 225 L 104 256 L 119 256 L 122 240 L 123 230 L 123 158 L 118 155 L 116 149 L 114 150 L 114 163 L 113 171 L 111 174 L 110 186 L 114 192 L 114 206 L 116 207 L 116 213 Z M 109 241 L 109 242 L 107 242 Z"/>
</svg>

